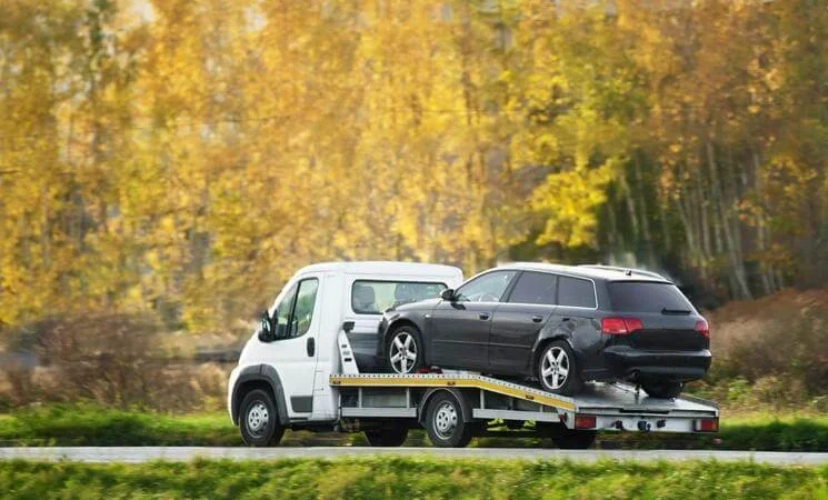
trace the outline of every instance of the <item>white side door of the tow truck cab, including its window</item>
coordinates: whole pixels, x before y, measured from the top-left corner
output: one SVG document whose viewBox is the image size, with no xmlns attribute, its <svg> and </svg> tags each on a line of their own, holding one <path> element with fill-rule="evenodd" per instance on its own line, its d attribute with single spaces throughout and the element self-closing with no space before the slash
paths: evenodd
<svg viewBox="0 0 828 500">
<path fill-rule="evenodd" d="M 321 274 L 309 273 L 293 283 L 276 306 L 279 338 L 262 344 L 266 361 L 279 373 L 291 418 L 308 418 L 313 411 L 321 281 Z"/>
</svg>

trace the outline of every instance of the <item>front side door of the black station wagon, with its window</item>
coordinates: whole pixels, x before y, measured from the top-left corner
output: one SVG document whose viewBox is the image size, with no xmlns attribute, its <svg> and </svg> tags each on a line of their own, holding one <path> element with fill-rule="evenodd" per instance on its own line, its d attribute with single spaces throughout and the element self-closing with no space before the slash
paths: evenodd
<svg viewBox="0 0 828 500">
<path fill-rule="evenodd" d="M 491 318 L 517 271 L 492 271 L 461 286 L 456 300 L 442 300 L 431 312 L 433 364 L 485 370 L 489 359 Z"/>
</svg>

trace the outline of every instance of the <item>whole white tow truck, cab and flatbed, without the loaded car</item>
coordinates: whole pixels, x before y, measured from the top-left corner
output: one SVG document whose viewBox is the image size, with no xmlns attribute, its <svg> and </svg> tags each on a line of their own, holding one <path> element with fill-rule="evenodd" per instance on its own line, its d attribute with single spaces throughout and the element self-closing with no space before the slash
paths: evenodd
<svg viewBox="0 0 828 500">
<path fill-rule="evenodd" d="M 230 374 L 228 411 L 242 440 L 275 446 L 286 429 L 306 429 L 365 432 L 371 446 L 400 446 L 410 429 L 425 427 L 435 446 L 463 447 L 493 433 L 498 421 L 579 449 L 598 431 L 718 431 L 718 407 L 691 396 L 656 399 L 630 386 L 593 383 L 562 397 L 472 372 L 383 373 L 376 359 L 382 311 L 461 281 L 457 268 L 410 262 L 299 270 L 262 314 Z"/>
</svg>

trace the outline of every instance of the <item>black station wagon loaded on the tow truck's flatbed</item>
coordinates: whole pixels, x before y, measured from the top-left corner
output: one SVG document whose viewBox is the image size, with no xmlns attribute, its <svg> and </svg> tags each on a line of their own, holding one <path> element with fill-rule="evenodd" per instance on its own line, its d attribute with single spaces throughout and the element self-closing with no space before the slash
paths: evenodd
<svg viewBox="0 0 828 500">
<path fill-rule="evenodd" d="M 397 373 L 470 370 L 567 396 L 625 380 L 675 398 L 711 360 L 707 321 L 672 282 L 605 266 L 491 269 L 387 311 L 379 336 L 378 356 Z"/>
</svg>

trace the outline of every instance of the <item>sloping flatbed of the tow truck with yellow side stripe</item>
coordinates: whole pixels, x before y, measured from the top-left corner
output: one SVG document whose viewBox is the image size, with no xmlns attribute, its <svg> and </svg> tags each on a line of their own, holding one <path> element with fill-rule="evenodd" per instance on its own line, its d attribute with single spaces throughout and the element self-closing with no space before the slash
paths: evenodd
<svg viewBox="0 0 828 500">
<path fill-rule="evenodd" d="M 342 429 L 357 430 L 370 422 L 378 436 L 393 436 L 402 428 L 425 427 L 438 446 L 465 446 L 468 439 L 486 433 L 486 423 L 500 420 L 512 424 L 536 422 L 541 434 L 551 437 L 562 448 L 587 448 L 597 431 L 634 432 L 716 432 L 719 408 L 712 401 L 692 396 L 676 399 L 648 397 L 636 387 L 624 383 L 591 383 L 576 397 L 553 394 L 527 383 L 501 380 L 469 372 L 446 373 L 361 373 L 353 362 L 348 338 L 338 339 L 342 373 L 331 373 L 329 382 L 338 397 Z M 433 401 L 456 401 L 441 417 Z M 445 409 L 445 408 L 443 408 Z M 440 438 L 440 422 L 446 431 L 456 414 L 465 429 L 460 439 Z M 392 423 L 396 422 L 396 423 Z M 401 422 L 408 422 L 400 426 Z M 370 432 L 370 431 L 369 431 Z M 445 437 L 445 433 L 443 433 Z M 436 439 L 437 438 L 437 439 Z M 382 440 L 386 442 L 393 441 Z"/>
</svg>

